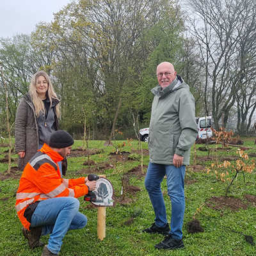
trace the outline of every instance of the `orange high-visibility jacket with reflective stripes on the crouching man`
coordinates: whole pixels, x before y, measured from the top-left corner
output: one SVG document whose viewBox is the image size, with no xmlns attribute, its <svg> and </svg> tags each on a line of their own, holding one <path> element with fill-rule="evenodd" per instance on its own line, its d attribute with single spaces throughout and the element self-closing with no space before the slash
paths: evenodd
<svg viewBox="0 0 256 256">
<path fill-rule="evenodd" d="M 88 194 L 85 178 L 62 179 L 58 162 L 63 160 L 47 144 L 26 164 L 20 177 L 15 209 L 22 225 L 29 230 L 30 223 L 24 217 L 29 204 L 60 196 L 79 197 Z"/>
</svg>

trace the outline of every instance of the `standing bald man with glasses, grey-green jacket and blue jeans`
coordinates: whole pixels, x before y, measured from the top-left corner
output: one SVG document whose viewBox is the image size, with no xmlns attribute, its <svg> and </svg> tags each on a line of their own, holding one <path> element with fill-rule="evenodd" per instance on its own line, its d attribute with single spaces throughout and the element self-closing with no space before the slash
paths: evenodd
<svg viewBox="0 0 256 256">
<path fill-rule="evenodd" d="M 188 84 L 177 76 L 171 63 L 160 63 L 156 75 L 159 85 L 151 90 L 155 96 L 148 138 L 150 163 L 145 177 L 145 187 L 156 218 L 152 226 L 143 232 L 165 235 L 166 238 L 155 248 L 172 250 L 184 247 L 184 176 L 185 166 L 189 164 L 190 148 L 197 136 L 195 100 Z M 161 191 L 164 175 L 172 202 L 171 230 Z"/>
</svg>

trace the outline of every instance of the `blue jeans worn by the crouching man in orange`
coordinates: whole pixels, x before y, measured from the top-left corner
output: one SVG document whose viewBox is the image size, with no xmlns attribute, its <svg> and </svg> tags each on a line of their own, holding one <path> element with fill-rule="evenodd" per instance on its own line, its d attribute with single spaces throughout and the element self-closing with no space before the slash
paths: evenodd
<svg viewBox="0 0 256 256">
<path fill-rule="evenodd" d="M 68 230 L 83 228 L 87 218 L 79 212 L 79 200 L 74 197 L 57 197 L 41 201 L 32 215 L 31 227 L 42 227 L 42 236 L 51 234 L 48 249 L 60 252 L 63 237 Z"/>
</svg>

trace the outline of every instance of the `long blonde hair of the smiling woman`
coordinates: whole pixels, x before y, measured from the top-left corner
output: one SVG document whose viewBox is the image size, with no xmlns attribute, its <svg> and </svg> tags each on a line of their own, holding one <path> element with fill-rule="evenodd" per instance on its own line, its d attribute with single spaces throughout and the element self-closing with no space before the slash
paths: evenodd
<svg viewBox="0 0 256 256">
<path fill-rule="evenodd" d="M 54 88 L 52 86 L 52 83 L 51 83 L 51 80 L 48 76 L 48 74 L 44 71 L 38 71 L 34 74 L 34 76 L 32 77 L 31 79 L 31 83 L 29 85 L 29 95 L 31 97 L 31 100 L 35 106 L 35 111 L 36 111 L 36 116 L 38 117 L 40 115 L 40 112 L 43 112 L 45 114 L 45 108 L 44 108 L 44 102 L 42 99 L 40 99 L 40 97 L 38 97 L 38 93 L 36 92 L 36 79 L 38 79 L 38 77 L 40 76 L 44 76 L 47 83 L 48 83 L 48 90 L 47 90 L 47 93 L 48 93 L 48 97 L 49 97 L 49 100 L 51 102 L 51 105 L 52 106 L 52 99 L 58 99 L 56 93 L 54 92 Z M 56 106 L 56 115 L 57 115 L 57 118 L 60 117 L 60 104 L 57 104 Z"/>
</svg>

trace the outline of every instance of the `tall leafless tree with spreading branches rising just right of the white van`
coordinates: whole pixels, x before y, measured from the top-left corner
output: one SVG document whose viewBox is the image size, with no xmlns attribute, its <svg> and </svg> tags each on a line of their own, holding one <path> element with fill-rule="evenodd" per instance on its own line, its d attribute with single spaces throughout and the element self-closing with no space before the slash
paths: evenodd
<svg viewBox="0 0 256 256">
<path fill-rule="evenodd" d="M 244 25 L 255 4 L 248 8 L 252 6 L 251 0 L 188 0 L 188 3 L 198 18 L 198 24 L 195 20 L 191 24 L 192 34 L 204 60 L 205 109 L 208 113 L 210 106 L 207 95 L 211 90 L 212 116 L 219 129 L 221 113 L 224 113 L 226 125 L 228 113 L 237 99 L 237 85 L 241 79 L 241 71 L 236 68 L 241 56 L 240 42 L 241 37 L 246 35 Z"/>
</svg>

